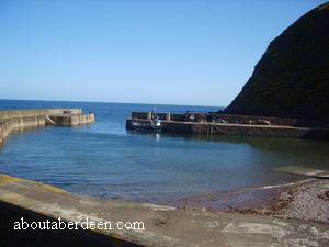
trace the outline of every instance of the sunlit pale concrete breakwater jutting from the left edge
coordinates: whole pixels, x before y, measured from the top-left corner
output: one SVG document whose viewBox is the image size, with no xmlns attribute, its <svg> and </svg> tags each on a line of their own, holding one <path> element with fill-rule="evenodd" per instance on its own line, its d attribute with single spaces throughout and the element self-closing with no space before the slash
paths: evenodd
<svg viewBox="0 0 329 247">
<path fill-rule="evenodd" d="M 94 122 L 94 114 L 81 109 L 32 109 L 0 111 L 0 145 L 11 130 L 45 125 L 78 125 Z"/>
</svg>

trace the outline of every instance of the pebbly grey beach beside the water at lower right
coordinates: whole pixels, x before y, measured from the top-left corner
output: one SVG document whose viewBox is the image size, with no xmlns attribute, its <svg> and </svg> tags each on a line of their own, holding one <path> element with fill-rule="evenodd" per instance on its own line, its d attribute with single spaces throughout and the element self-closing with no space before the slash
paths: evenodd
<svg viewBox="0 0 329 247">
<path fill-rule="evenodd" d="M 329 223 L 329 179 L 315 179 L 305 184 L 286 188 L 272 203 L 257 209 L 231 211 Z"/>
</svg>

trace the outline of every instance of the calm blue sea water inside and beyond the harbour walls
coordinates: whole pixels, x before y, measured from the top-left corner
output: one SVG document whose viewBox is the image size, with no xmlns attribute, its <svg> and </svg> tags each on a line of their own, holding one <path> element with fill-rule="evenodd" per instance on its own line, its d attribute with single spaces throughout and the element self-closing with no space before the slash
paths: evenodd
<svg viewBox="0 0 329 247">
<path fill-rule="evenodd" d="M 150 111 L 152 106 L 0 100 L 0 109 L 82 108 L 97 119 L 86 126 L 48 126 L 11 134 L 0 149 L 0 172 L 81 194 L 220 207 L 232 191 L 303 179 L 275 168 L 329 168 L 328 142 L 125 130 L 132 111 Z M 189 110 L 217 108 L 157 105 L 159 112 Z"/>
</svg>

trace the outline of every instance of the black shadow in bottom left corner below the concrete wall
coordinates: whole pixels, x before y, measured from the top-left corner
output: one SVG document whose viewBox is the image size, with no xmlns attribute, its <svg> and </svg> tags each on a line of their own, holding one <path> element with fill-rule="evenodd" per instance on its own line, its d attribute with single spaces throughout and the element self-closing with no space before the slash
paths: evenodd
<svg viewBox="0 0 329 247">
<path fill-rule="evenodd" d="M 0 202 L 0 246 L 5 247 L 140 247 L 133 243 L 102 235 L 92 231 L 14 231 L 21 217 L 27 223 L 54 218 Z"/>
</svg>

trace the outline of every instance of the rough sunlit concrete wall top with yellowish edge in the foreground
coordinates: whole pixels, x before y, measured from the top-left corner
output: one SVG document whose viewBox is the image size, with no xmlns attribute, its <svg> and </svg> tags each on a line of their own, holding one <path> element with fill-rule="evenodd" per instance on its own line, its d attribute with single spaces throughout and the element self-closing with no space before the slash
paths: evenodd
<svg viewBox="0 0 329 247">
<path fill-rule="evenodd" d="M 95 222 L 145 223 L 145 231 L 99 231 L 98 234 L 112 237 L 109 246 L 114 246 L 110 242 L 116 238 L 140 246 L 329 246 L 329 225 L 326 223 L 82 197 L 7 175 L 0 175 L 0 201 L 65 221 L 89 217 Z"/>
</svg>

